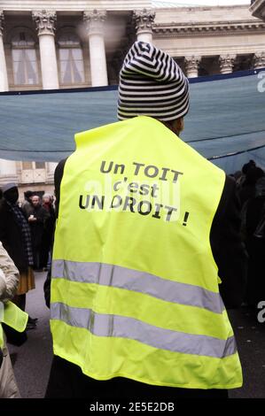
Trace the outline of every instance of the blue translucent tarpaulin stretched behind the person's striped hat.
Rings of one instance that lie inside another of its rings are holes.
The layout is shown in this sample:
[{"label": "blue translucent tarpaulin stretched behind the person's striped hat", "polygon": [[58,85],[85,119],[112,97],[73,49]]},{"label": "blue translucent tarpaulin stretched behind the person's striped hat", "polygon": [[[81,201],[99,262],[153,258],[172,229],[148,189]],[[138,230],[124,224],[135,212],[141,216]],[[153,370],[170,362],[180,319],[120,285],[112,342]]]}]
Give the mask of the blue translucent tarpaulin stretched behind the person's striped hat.
[{"label": "blue translucent tarpaulin stretched behind the person's striped hat", "polygon": [[[182,139],[227,173],[265,168],[265,69],[191,81]],[[116,121],[117,87],[0,94],[0,158],[53,161],[74,134]]]}]

